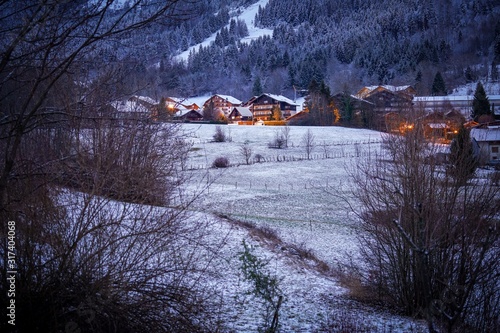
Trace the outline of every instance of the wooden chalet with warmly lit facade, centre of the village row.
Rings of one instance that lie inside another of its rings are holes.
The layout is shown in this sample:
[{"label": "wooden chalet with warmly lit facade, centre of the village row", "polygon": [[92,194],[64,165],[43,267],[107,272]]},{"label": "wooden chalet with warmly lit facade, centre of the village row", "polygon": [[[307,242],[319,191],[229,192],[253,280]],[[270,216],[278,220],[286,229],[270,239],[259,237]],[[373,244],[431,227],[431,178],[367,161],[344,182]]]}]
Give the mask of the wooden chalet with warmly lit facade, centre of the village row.
[{"label": "wooden chalet with warmly lit facade, centre of the village row", "polygon": [[273,112],[279,110],[281,118],[288,118],[297,111],[297,104],[292,100],[273,94],[262,94],[258,97],[252,98],[247,102],[254,119],[257,120],[281,120],[273,119]]}]

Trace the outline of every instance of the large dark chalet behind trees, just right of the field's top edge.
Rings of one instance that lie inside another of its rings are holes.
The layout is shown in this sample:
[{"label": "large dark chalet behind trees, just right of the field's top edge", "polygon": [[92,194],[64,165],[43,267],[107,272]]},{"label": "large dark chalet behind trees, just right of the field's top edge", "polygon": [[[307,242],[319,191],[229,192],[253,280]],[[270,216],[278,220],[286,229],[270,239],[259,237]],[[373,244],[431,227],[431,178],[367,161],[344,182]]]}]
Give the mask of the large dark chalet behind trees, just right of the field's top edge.
[{"label": "large dark chalet behind trees, just right of the field's top edge", "polygon": [[358,91],[355,97],[373,105],[375,128],[393,131],[393,126],[388,128],[385,123],[386,115],[411,110],[415,94],[416,90],[412,86],[384,85],[364,87]]}]

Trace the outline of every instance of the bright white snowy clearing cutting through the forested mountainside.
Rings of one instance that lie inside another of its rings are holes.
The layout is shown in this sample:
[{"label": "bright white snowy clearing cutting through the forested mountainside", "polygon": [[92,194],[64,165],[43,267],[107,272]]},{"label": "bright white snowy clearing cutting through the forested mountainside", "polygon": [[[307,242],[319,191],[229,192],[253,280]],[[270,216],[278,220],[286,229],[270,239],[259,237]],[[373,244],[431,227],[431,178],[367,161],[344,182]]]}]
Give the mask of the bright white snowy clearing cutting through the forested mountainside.
[{"label": "bright white snowy clearing cutting through the forested mountainside", "polygon": [[[250,41],[257,39],[261,36],[265,36],[265,35],[272,36],[273,30],[258,28],[255,26],[255,22],[254,22],[255,15],[257,14],[257,11],[259,10],[259,6],[264,7],[268,2],[269,2],[269,0],[260,0],[256,3],[254,3],[253,5],[248,6],[247,8],[238,8],[234,11],[234,13],[235,13],[234,18],[244,21],[248,27],[249,35],[247,37],[243,38],[241,40],[241,42],[249,43]],[[229,23],[226,27],[229,27]],[[198,50],[200,46],[203,46],[203,47],[209,46],[211,43],[213,43],[215,41],[216,36],[217,36],[217,32],[212,34],[210,37],[205,39],[203,42],[191,46],[186,51],[179,54],[176,57],[176,59],[187,61],[187,59],[189,57],[189,53],[191,51]]]}]

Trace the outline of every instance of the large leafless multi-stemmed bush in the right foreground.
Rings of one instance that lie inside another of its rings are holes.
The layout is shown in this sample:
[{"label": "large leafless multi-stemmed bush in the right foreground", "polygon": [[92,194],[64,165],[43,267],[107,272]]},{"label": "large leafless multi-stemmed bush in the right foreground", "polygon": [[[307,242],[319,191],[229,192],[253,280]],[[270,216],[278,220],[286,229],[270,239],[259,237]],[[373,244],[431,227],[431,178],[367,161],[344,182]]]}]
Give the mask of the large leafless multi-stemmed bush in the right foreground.
[{"label": "large leafless multi-stemmed bush in the right foreground", "polygon": [[384,146],[386,154],[352,172],[367,283],[406,314],[424,317],[432,332],[494,331],[499,188],[457,181],[462,177],[435,163],[439,147],[419,127],[386,136]]}]

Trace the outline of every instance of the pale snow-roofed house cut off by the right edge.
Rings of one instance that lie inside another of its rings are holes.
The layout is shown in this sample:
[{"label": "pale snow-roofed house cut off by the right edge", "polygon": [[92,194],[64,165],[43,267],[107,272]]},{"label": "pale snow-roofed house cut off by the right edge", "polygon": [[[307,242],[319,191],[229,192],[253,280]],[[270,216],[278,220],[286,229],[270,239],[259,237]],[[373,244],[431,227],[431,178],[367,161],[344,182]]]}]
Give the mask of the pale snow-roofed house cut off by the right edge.
[{"label": "pale snow-roofed house cut off by the right edge", "polygon": [[474,141],[483,164],[500,164],[500,121],[481,124],[471,129]]}]

